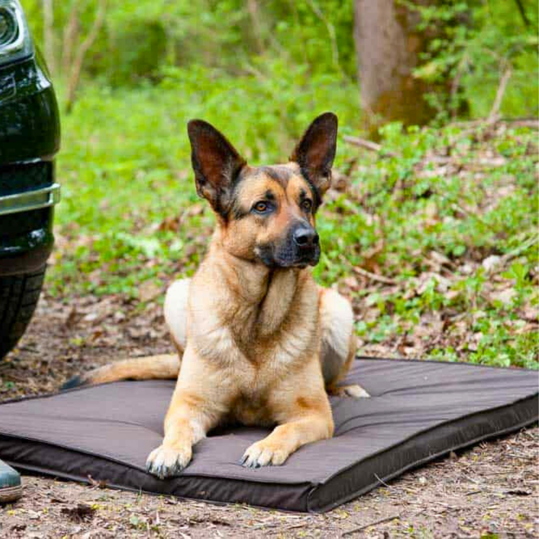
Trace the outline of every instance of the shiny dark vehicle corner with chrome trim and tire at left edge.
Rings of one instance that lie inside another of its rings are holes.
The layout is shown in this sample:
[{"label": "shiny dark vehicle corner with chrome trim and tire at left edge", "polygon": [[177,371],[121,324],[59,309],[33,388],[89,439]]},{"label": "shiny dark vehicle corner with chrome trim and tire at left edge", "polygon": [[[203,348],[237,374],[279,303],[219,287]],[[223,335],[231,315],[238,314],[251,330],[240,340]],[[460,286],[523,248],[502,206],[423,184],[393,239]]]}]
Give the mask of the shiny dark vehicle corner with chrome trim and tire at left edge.
[{"label": "shiny dark vehicle corner with chrome trim and tire at left edge", "polygon": [[58,105],[18,0],[0,0],[0,358],[23,335],[52,250]]}]

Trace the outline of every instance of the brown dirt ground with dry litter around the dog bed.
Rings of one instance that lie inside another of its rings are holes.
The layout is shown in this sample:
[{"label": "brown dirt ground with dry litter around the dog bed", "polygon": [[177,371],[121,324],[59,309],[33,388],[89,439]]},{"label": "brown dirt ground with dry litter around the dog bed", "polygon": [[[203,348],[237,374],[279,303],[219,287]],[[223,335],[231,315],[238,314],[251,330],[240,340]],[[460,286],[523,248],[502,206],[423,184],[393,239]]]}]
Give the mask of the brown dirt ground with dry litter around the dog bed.
[{"label": "brown dirt ground with dry litter around the dog bed", "polygon": [[[68,305],[45,297],[19,347],[0,364],[0,400],[57,390],[81,369],[111,360],[170,350],[156,303],[142,310],[114,296]],[[522,430],[407,473],[323,515],[26,475],[23,498],[0,507],[0,536],[539,537],[538,444],[536,426]]]}]

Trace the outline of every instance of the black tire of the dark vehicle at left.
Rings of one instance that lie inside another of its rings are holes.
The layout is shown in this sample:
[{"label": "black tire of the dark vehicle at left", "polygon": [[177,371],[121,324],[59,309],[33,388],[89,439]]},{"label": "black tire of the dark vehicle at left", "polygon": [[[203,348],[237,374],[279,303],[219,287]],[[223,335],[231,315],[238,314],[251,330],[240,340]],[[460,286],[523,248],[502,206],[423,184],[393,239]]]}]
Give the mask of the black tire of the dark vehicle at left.
[{"label": "black tire of the dark vehicle at left", "polygon": [[36,308],[45,266],[32,273],[0,276],[0,359],[23,336]]}]

